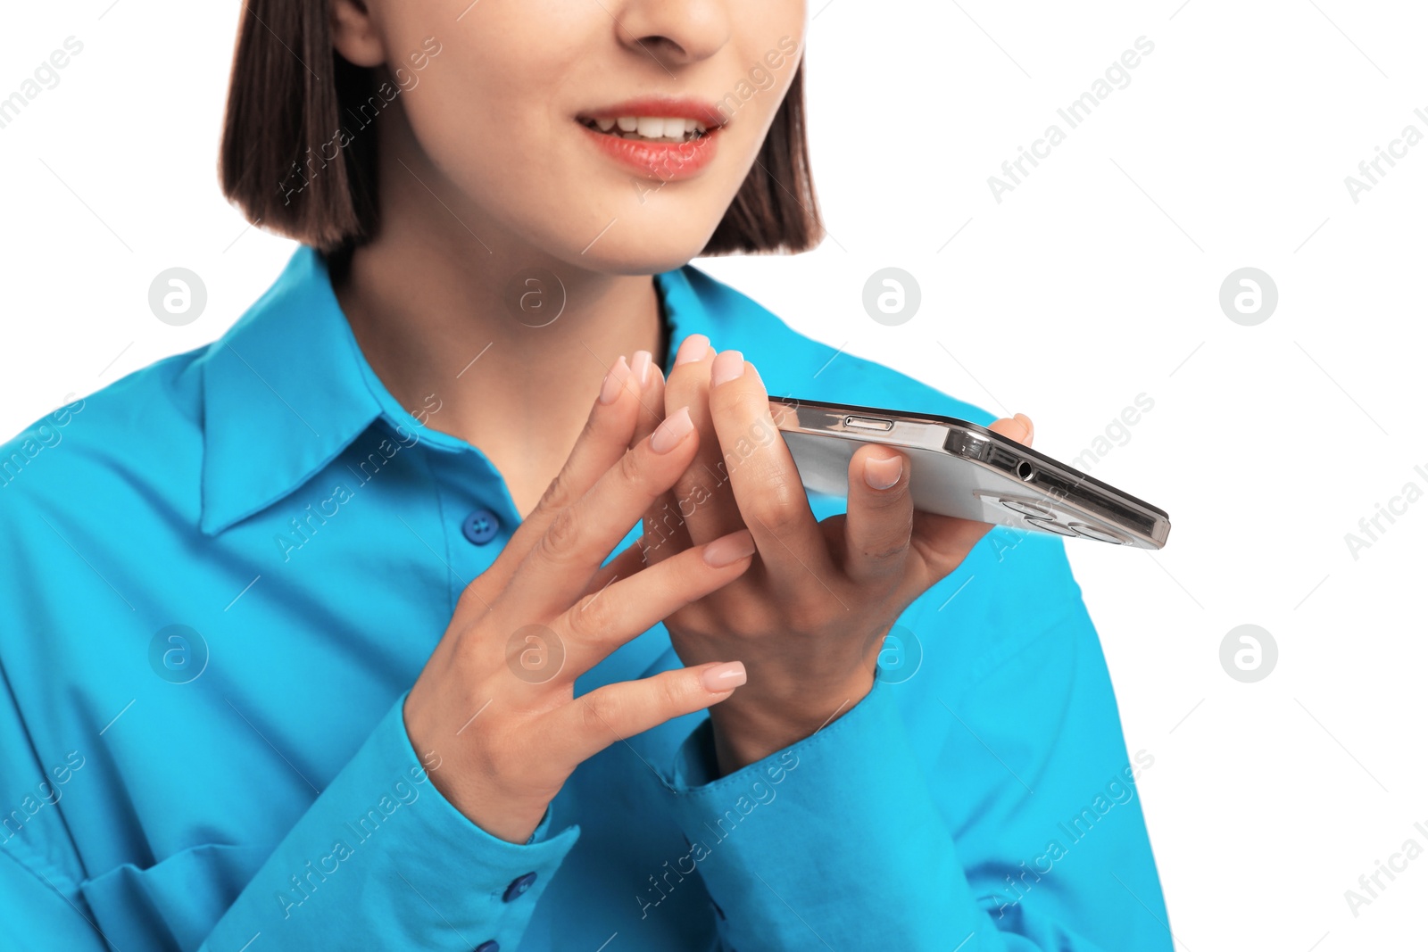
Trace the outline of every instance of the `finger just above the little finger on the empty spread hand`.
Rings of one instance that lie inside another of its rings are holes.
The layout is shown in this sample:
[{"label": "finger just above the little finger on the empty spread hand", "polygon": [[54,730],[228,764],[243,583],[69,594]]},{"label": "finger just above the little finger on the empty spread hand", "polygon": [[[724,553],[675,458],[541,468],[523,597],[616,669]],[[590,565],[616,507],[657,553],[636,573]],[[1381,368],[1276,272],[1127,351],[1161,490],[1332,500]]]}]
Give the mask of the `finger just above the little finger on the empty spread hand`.
[{"label": "finger just above the little finger on the empty spread hand", "polygon": [[574,679],[680,608],[743,575],[754,561],[748,530],[685,550],[581,598],[553,622]]}]

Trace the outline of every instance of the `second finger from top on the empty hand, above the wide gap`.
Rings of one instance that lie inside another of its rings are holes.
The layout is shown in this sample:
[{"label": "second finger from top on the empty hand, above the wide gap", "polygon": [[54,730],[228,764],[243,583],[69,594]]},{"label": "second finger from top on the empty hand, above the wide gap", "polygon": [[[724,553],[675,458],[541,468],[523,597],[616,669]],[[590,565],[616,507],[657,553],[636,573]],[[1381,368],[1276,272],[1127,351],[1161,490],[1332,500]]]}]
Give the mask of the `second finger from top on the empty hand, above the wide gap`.
[{"label": "second finger from top on the empty hand, above the wide gap", "polygon": [[674,485],[694,457],[697,440],[688,412],[680,410],[665,418],[578,501],[554,514],[503,597],[523,611],[570,607],[630,527]]}]

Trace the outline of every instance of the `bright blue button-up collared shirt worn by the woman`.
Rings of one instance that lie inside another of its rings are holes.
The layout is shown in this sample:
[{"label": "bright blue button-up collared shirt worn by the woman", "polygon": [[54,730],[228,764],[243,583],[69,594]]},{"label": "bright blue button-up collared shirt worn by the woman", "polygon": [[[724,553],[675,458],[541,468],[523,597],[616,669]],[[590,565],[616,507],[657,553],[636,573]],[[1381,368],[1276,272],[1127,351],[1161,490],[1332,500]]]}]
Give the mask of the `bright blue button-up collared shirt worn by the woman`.
[{"label": "bright blue button-up collared shirt worn by the woman", "polygon": [[[774,394],[992,418],[693,267],[655,281],[671,354],[703,333]],[[467,821],[401,702],[520,515],[423,425],[437,391],[398,405],[300,247],[221,340],[0,447],[0,946],[1171,948],[1154,756],[1050,535],[994,530],[867,698],[765,761],[715,779],[690,715],[581,765],[528,844]],[[577,691],[678,664],[657,625]]]}]

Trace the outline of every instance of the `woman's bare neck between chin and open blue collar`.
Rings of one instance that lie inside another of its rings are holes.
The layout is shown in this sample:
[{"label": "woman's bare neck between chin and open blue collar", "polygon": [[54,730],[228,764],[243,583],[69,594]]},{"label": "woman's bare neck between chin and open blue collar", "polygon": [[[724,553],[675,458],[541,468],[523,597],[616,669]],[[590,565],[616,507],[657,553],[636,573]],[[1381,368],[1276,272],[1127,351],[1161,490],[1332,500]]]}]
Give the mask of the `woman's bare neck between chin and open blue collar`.
[{"label": "woman's bare neck between chin and open blue collar", "polygon": [[338,303],[387,390],[491,458],[526,515],[605,370],[637,350],[663,361],[654,281],[578,271],[494,230],[483,243],[451,216],[406,220],[397,208],[414,204],[398,198],[384,196],[381,233],[334,278]]}]

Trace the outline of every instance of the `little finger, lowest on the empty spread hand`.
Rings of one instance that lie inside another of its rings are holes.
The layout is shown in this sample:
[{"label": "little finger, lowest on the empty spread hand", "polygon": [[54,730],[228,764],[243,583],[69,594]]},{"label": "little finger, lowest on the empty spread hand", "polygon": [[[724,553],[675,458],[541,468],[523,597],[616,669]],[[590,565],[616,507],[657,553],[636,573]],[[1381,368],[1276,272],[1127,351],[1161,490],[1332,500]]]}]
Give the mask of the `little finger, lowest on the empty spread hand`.
[{"label": "little finger, lowest on the empty spread hand", "polygon": [[574,769],[615,741],[718,704],[745,678],[744,665],[728,661],[595,688],[541,715],[534,749],[568,758]]}]

